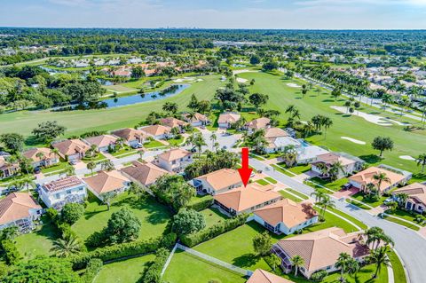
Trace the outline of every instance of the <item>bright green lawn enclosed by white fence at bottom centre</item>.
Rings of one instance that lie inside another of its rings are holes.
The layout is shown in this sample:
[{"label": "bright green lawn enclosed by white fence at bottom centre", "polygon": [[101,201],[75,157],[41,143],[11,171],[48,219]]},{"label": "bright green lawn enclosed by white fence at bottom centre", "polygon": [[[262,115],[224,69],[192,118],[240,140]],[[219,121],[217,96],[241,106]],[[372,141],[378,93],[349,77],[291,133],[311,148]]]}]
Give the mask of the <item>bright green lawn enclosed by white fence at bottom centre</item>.
[{"label": "bright green lawn enclosed by white fence at bottom centre", "polygon": [[180,250],[173,255],[163,279],[170,283],[207,283],[213,279],[220,283],[246,282],[240,273]]}]

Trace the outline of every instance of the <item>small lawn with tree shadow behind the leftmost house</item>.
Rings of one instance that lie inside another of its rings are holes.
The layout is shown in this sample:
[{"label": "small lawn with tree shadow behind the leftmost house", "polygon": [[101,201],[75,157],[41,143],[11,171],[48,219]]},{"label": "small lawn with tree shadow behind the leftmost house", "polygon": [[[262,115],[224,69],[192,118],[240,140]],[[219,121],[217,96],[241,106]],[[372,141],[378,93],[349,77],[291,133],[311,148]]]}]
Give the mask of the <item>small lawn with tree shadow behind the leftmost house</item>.
[{"label": "small lawn with tree shadow behind the leftmost house", "polygon": [[42,216],[43,226],[34,232],[22,234],[16,240],[16,247],[24,258],[36,255],[51,255],[53,240],[59,237],[58,231],[47,216]]}]

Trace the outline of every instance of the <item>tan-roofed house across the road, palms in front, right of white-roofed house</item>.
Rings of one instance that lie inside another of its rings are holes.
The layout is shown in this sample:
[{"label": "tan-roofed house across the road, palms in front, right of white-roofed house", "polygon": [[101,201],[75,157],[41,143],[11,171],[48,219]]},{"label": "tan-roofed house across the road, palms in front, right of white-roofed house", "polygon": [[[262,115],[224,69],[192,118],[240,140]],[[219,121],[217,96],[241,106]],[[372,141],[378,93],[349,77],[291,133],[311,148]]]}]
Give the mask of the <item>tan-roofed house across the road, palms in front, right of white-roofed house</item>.
[{"label": "tan-roofed house across the road, palms in front, right of white-roofed house", "polygon": [[324,153],[317,155],[315,161],[312,161],[312,171],[319,174],[319,177],[330,177],[330,174],[323,172],[321,167],[326,169],[333,167],[335,163],[340,162],[343,169],[337,173],[337,179],[346,177],[354,172],[362,169],[365,161],[360,160],[358,157],[350,156],[344,153]]}]

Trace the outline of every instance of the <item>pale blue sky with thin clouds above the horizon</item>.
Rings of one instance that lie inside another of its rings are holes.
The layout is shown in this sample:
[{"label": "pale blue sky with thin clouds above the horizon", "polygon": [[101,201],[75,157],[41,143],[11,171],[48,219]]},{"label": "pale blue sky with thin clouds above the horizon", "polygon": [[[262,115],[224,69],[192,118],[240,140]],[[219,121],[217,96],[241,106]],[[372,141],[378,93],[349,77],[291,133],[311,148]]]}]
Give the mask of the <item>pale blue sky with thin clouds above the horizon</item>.
[{"label": "pale blue sky with thin clouds above the horizon", "polygon": [[0,26],[423,29],[426,0],[0,0]]}]

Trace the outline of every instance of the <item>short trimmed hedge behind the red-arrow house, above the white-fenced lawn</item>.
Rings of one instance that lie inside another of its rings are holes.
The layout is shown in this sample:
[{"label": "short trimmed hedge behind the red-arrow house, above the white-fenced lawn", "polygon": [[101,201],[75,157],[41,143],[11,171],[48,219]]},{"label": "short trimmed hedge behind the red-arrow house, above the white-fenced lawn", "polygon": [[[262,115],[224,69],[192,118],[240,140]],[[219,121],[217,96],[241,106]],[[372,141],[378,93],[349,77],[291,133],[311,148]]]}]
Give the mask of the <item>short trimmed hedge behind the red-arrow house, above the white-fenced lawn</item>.
[{"label": "short trimmed hedge behind the red-arrow house, above the white-fenced lawn", "polygon": [[231,231],[242,224],[246,223],[248,215],[241,214],[231,219],[225,220],[223,223],[211,226],[208,229],[201,230],[192,234],[184,235],[181,237],[182,243],[188,247],[193,247],[203,241],[213,239],[224,232]]}]

